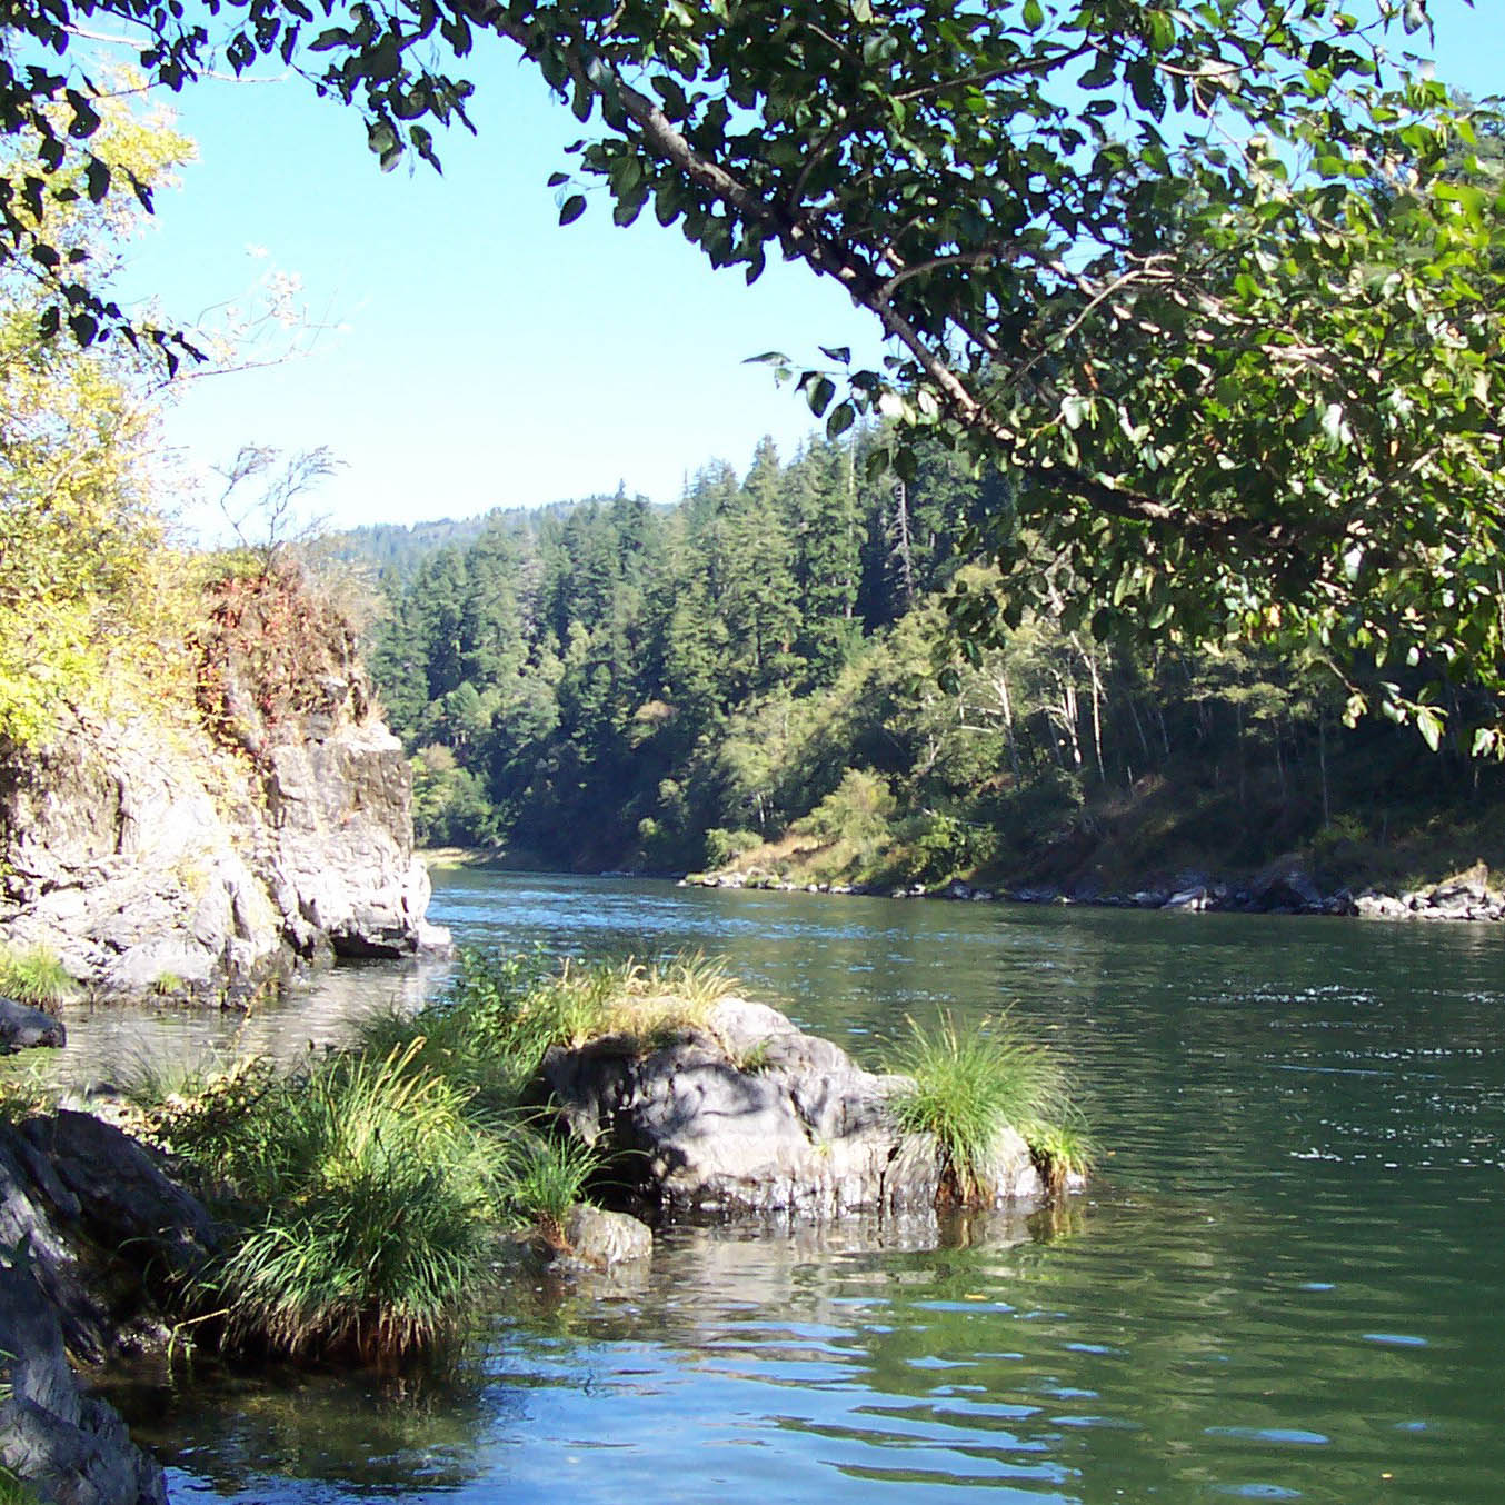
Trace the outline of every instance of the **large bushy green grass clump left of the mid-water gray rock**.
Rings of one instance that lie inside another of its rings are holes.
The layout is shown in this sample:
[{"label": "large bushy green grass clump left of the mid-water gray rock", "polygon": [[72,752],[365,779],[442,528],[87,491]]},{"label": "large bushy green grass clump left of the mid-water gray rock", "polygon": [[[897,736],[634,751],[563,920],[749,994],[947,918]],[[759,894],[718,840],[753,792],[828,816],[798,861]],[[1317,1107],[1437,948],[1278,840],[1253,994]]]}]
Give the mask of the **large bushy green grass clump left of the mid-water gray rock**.
[{"label": "large bushy green grass clump left of the mid-water gray rock", "polygon": [[390,1368],[462,1329],[489,1279],[503,1147],[415,1054],[230,1070],[164,1105],[161,1136],[239,1227],[200,1293],[232,1347]]}]

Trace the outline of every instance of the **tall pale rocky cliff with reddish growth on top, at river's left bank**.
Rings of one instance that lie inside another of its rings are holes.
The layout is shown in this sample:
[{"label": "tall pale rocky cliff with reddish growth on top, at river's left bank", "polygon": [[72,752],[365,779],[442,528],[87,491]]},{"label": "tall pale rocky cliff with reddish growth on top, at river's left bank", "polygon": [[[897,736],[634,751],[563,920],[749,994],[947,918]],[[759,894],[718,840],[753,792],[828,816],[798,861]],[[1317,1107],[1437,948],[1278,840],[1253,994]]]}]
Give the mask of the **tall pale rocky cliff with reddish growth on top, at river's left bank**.
[{"label": "tall pale rocky cliff with reddish growth on top, at river's left bank", "polygon": [[0,751],[0,939],[95,993],[218,1001],[445,939],[402,748],[349,631],[287,608],[299,588],[275,613],[265,585],[257,611],[244,588],[233,614],[220,600],[197,715],[75,712],[45,748]]}]

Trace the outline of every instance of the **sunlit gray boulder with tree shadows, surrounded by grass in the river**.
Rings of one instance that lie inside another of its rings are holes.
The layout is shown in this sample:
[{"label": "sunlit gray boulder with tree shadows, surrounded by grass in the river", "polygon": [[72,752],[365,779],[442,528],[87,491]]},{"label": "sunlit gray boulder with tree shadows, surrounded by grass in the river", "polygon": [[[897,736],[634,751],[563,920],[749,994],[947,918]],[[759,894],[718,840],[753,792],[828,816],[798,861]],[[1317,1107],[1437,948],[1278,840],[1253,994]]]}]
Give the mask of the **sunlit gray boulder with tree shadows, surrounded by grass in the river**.
[{"label": "sunlit gray boulder with tree shadows, surrounded by grass in the river", "polygon": [[[540,1085],[661,1213],[898,1213],[930,1209],[942,1192],[935,1139],[898,1127],[905,1079],[861,1070],[762,1004],[724,999],[707,1029],[646,1054],[622,1037],[555,1047]],[[1004,1136],[984,1183],[999,1206],[1040,1195],[1017,1133]]]}]

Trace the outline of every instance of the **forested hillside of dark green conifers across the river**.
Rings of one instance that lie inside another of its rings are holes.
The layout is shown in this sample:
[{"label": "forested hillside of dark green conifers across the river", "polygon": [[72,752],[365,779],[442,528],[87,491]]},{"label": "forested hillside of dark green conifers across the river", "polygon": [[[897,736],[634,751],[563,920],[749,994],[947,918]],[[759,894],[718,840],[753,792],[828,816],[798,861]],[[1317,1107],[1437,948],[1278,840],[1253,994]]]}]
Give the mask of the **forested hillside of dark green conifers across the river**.
[{"label": "forested hillside of dark green conifers across the river", "polygon": [[963,560],[1007,486],[939,448],[900,482],[873,445],[765,441],[673,510],[495,515],[390,575],[372,656],[420,838],[652,871],[771,840],[810,877],[1088,889],[1296,849],[1336,880],[1494,855],[1496,766],[1345,727],[1350,686],[1275,625],[1219,652],[1099,643],[1061,579],[963,653],[944,600],[1002,588]]}]

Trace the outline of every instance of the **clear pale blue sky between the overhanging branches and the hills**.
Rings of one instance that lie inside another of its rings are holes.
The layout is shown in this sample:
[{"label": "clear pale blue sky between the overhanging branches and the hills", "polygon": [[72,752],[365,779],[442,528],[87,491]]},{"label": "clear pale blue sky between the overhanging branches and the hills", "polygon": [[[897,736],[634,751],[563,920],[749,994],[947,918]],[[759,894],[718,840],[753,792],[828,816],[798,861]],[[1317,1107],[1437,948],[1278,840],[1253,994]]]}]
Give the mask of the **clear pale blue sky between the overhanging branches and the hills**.
[{"label": "clear pale blue sky between the overhanging branches and the hills", "polygon": [[[1433,14],[1440,77],[1505,90],[1505,0],[1433,0]],[[438,143],[442,178],[379,173],[358,116],[296,81],[181,96],[199,160],[158,197],[122,290],[155,289],[172,318],[193,321],[227,299],[248,306],[247,289],[278,269],[327,327],[296,358],[187,384],[167,417],[187,476],[242,444],[327,445],[342,470],[309,512],[334,527],[619,482],[671,501],[709,459],[740,470],[762,435],[787,455],[810,430],[802,399],[746,357],[819,360],[819,343],[877,361],[870,318],[804,268],[771,265],[748,287],[652,212],[617,229],[594,194],[561,229],[546,178],[567,166],[579,126],[500,54],[474,75],[480,134]],[[212,510],[185,516],[214,527]]]}]

